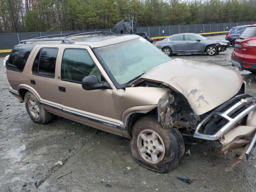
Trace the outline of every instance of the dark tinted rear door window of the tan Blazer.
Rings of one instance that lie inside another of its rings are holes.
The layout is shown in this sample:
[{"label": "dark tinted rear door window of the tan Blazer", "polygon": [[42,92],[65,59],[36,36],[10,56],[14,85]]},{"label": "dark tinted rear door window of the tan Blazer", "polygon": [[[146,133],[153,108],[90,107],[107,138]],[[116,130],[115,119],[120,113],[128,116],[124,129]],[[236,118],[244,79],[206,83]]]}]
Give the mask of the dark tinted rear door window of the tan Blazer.
[{"label": "dark tinted rear door window of the tan Blazer", "polygon": [[32,66],[32,74],[54,78],[57,54],[58,48],[40,49]]}]

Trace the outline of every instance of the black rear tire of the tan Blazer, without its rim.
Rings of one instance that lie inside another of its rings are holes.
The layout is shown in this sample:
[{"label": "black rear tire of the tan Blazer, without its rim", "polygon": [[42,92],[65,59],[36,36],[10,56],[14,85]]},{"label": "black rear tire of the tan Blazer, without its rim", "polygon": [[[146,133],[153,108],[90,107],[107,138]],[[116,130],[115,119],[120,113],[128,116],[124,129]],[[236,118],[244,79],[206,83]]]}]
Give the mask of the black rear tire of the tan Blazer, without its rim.
[{"label": "black rear tire of the tan Blazer, without its rim", "polygon": [[[25,106],[26,106],[26,110],[28,112],[28,115],[30,116],[30,118],[35,123],[44,124],[44,123],[47,123],[50,120],[52,120],[52,114],[44,109],[44,106],[42,106],[40,104],[39,100],[36,98],[36,96],[34,94],[32,94],[32,92],[30,92],[30,91],[26,92],[24,100],[25,100]],[[30,109],[29,109],[29,102],[30,102],[30,100],[32,102],[34,102],[34,105],[36,105],[38,107],[38,109],[39,109],[39,112],[37,114],[38,117],[35,117],[32,114],[32,112],[30,112]]]}]

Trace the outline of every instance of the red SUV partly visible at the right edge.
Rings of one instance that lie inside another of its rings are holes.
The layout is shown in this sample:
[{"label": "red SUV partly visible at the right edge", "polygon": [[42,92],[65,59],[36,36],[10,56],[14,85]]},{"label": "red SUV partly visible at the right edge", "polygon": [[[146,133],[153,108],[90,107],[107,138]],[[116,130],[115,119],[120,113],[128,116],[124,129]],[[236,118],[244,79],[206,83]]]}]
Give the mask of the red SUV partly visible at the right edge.
[{"label": "red SUV partly visible at the right edge", "polygon": [[239,70],[256,73],[256,24],[248,26],[236,39],[231,62]]}]

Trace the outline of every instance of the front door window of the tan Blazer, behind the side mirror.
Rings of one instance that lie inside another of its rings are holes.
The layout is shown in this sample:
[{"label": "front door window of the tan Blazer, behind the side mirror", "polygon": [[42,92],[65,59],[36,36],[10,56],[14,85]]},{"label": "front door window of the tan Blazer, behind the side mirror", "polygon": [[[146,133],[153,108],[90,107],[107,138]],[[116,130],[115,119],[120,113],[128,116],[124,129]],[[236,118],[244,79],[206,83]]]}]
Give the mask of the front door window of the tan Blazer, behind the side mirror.
[{"label": "front door window of the tan Blazer, behind the side mirror", "polygon": [[62,57],[61,79],[82,82],[88,75],[95,75],[101,80],[101,73],[87,50],[66,49]]}]

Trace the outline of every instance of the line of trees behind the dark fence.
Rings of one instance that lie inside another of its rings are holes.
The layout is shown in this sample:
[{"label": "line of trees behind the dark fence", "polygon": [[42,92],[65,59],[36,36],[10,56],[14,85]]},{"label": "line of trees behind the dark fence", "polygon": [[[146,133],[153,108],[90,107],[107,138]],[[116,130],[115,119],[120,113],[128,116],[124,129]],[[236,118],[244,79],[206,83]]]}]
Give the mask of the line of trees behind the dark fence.
[{"label": "line of trees behind the dark fence", "polygon": [[256,0],[0,0],[0,33],[256,21]]}]

